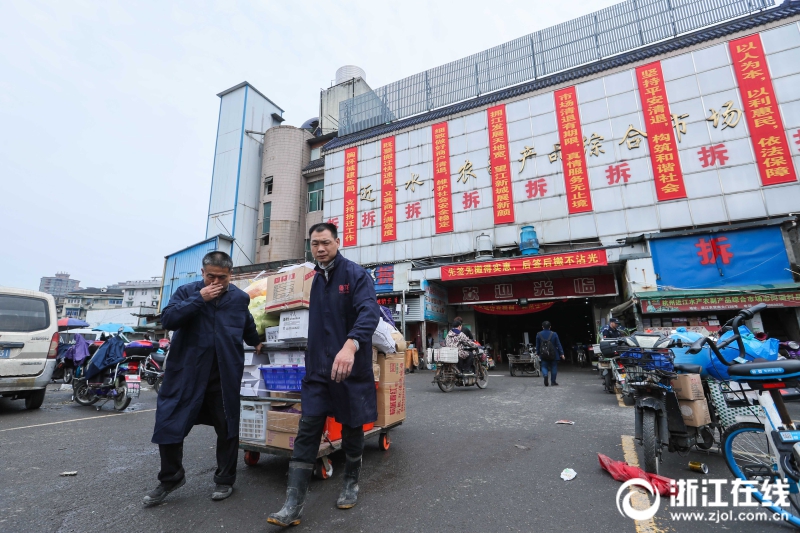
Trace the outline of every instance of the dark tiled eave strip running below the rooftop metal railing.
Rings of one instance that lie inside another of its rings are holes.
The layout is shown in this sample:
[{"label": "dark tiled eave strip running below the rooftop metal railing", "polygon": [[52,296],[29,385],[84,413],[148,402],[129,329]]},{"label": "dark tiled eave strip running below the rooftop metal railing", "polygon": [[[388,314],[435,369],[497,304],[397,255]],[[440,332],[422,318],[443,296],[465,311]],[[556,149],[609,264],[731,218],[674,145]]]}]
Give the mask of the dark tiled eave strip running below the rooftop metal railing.
[{"label": "dark tiled eave strip running below the rooftop metal railing", "polygon": [[323,147],[323,151],[327,153],[331,150],[359,143],[373,137],[386,136],[392,132],[415,126],[417,124],[424,124],[426,122],[446,119],[451,115],[462,113],[470,109],[484,107],[501,100],[507,100],[516,96],[540,91],[548,87],[554,87],[563,83],[577,81],[607,70],[637,63],[653,57],[658,57],[670,52],[688,48],[690,46],[695,46],[707,41],[726,37],[734,33],[747,31],[795,15],[800,15],[800,0],[785,0],[782,5],[766,11],[722,22],[711,27],[703,28],[685,35],[680,35],[672,39],[632,50],[630,52],[625,52],[614,57],[600,59],[580,67],[542,77],[521,85],[516,85],[489,94],[484,94],[477,98],[472,98],[470,100],[409,117],[407,119],[398,120],[389,124],[382,124],[380,126],[375,126],[370,129],[351,133],[349,135],[340,135],[336,139],[333,139],[327,143]]}]

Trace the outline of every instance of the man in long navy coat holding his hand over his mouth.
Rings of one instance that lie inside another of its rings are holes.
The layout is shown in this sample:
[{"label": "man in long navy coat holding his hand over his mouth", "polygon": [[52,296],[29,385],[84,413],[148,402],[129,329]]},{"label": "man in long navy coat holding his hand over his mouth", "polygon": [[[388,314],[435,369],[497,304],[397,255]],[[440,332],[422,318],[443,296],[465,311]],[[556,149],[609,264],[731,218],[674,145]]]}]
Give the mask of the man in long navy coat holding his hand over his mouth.
[{"label": "man in long navy coat holding his hand over his mouth", "polygon": [[145,504],[164,501],[186,483],[183,440],[195,424],[217,433],[216,487],[212,500],[233,492],[239,457],[239,388],[244,371],[243,342],[261,347],[247,306],[250,297],[230,284],[233,261],[224,252],[203,258],[203,280],[182,285],[161,314],[175,332],[164,383],[158,394],[154,444],[161,454],[158,487]]}]

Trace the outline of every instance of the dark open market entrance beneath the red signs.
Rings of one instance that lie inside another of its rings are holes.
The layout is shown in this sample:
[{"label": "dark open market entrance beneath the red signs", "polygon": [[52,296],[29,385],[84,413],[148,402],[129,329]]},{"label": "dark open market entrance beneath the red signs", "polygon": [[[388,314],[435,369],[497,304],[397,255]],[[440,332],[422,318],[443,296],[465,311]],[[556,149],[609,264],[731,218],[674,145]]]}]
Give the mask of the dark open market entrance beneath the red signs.
[{"label": "dark open market entrance beneath the red signs", "polygon": [[[543,303],[543,302],[541,302]],[[548,302],[549,303],[549,302]],[[475,322],[479,340],[492,347],[492,353],[519,353],[528,333],[530,342],[535,343],[536,334],[542,329],[545,320],[552,324],[558,333],[567,360],[574,355],[574,346],[593,344],[596,332],[593,325],[592,303],[589,299],[576,298],[553,302],[545,310],[526,314],[499,314],[481,312],[486,306],[475,306]]]}]

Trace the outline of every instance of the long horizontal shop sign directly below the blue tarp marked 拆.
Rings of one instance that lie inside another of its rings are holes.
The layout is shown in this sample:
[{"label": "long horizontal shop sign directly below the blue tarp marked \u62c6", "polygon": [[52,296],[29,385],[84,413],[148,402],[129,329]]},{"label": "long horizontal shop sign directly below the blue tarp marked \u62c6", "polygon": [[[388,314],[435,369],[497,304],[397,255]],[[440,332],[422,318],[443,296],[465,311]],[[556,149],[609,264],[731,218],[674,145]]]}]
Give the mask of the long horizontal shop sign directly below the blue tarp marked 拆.
[{"label": "long horizontal shop sign directly below the blue tarp marked \u62c6", "polygon": [[800,284],[747,285],[731,289],[648,291],[636,294],[642,313],[725,311],[765,303],[767,307],[800,307]]}]

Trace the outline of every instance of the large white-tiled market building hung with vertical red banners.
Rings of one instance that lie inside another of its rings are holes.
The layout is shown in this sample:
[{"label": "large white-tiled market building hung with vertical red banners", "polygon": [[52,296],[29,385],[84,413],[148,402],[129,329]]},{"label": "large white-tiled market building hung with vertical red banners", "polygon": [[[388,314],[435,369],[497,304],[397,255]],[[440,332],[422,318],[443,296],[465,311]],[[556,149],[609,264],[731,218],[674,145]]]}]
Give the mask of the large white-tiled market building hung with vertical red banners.
[{"label": "large white-tiled market building hung with vertical red banners", "polygon": [[543,320],[590,344],[612,314],[713,331],[762,301],[754,330],[800,338],[798,20],[631,0],[356,95],[323,218],[389,304],[433,287],[500,353]]}]

